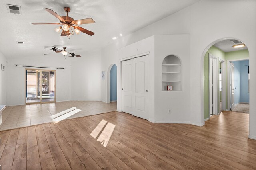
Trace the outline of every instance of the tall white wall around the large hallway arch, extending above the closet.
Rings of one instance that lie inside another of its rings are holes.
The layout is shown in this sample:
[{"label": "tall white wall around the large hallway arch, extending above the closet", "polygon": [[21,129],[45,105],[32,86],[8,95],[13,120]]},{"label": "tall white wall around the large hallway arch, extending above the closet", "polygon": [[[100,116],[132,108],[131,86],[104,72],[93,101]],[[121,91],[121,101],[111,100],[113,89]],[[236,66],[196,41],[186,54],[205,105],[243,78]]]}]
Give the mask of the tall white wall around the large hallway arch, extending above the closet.
[{"label": "tall white wall around the large hallway arch, extending above the closet", "polygon": [[[117,49],[152,35],[190,34],[190,122],[204,125],[204,53],[222,38],[243,41],[250,53],[250,86],[256,85],[256,1],[202,0],[163,20],[126,37],[116,39],[102,49],[102,70],[117,62]],[[118,65],[117,65],[118,66]],[[120,81],[119,81],[120,82]],[[104,100],[106,86],[102,86]],[[250,91],[250,102],[256,102],[256,89]],[[159,101],[160,102],[160,101]],[[163,114],[163,113],[158,113]],[[256,106],[250,105],[250,137],[256,139]]]}]

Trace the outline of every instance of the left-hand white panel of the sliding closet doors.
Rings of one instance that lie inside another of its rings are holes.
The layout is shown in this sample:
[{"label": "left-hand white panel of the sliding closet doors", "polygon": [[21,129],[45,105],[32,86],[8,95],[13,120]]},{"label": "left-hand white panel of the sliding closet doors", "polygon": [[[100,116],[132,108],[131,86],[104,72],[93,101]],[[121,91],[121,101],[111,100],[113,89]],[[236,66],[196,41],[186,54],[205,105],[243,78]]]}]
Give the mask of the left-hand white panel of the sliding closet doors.
[{"label": "left-hand white panel of the sliding closet doors", "polygon": [[133,114],[132,79],[132,59],[122,61],[122,111],[130,114]]}]

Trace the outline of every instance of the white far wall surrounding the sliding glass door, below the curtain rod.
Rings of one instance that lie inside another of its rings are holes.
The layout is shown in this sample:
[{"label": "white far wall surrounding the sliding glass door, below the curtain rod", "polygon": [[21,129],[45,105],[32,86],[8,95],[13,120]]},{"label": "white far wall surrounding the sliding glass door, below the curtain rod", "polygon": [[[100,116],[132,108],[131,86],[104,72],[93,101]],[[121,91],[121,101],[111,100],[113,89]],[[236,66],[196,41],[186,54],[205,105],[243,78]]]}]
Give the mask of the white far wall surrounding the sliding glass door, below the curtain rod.
[{"label": "white far wall surrounding the sliding glass door, below the curtain rod", "polygon": [[[44,57],[8,58],[7,104],[25,104],[25,68],[18,65],[64,67],[56,70],[56,101],[100,100],[100,51],[66,57],[61,54]],[[43,68],[47,69],[47,68]],[[97,79],[98,77],[98,79]]]}]

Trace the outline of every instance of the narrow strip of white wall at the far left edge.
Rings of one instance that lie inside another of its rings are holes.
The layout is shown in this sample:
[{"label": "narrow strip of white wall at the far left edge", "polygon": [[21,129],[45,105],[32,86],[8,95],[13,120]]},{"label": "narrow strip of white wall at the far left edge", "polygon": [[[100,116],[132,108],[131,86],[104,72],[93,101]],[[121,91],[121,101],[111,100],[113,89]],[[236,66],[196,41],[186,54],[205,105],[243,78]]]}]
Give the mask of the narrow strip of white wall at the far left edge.
[{"label": "narrow strip of white wall at the far left edge", "polygon": [[[0,52],[0,64],[6,65],[6,58]],[[6,104],[6,70],[0,69],[0,105]]]}]

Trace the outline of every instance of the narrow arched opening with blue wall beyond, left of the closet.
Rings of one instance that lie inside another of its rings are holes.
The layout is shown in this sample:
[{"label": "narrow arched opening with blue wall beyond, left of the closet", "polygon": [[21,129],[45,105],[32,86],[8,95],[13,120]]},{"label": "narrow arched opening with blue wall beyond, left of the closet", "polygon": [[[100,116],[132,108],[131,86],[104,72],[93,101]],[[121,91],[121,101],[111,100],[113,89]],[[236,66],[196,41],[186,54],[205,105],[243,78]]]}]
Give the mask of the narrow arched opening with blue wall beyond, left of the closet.
[{"label": "narrow arched opening with blue wall beyond, left of the closet", "polygon": [[117,66],[111,64],[107,72],[107,103],[117,101]]}]

